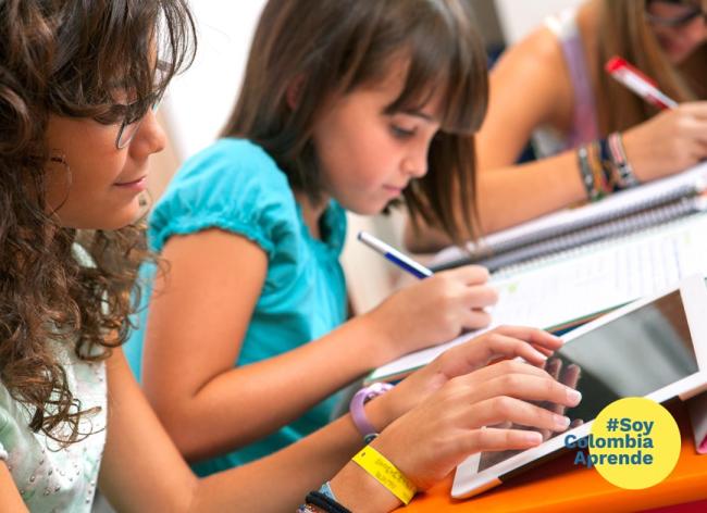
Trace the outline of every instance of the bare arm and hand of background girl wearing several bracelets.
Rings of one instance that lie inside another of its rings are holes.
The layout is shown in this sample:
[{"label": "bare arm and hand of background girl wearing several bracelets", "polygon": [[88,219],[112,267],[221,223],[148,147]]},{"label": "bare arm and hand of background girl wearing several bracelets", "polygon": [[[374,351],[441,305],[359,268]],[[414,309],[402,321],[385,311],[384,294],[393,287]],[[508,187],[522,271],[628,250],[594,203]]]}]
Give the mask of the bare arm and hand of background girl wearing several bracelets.
[{"label": "bare arm and hand of background girl wearing several bracelets", "polygon": [[[476,136],[476,208],[484,234],[586,199],[574,149],[514,164],[537,127],[570,129],[573,96],[560,45],[547,28],[510,48],[494,67],[488,113]],[[707,102],[683,103],[622,133],[638,180],[678,173],[707,158],[706,120]],[[449,243],[437,228],[423,226],[414,234],[407,227],[406,245],[412,251],[434,251]]]}]

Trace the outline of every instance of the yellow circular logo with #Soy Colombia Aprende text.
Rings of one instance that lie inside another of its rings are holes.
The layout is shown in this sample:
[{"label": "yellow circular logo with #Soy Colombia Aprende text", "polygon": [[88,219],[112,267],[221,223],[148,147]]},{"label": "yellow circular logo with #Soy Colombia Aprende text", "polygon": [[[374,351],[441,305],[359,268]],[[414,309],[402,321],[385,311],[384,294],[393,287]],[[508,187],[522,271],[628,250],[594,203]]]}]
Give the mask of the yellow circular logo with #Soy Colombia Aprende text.
[{"label": "yellow circular logo with #Soy Colombia Aprende text", "polygon": [[650,399],[619,399],[594,421],[590,458],[609,483],[630,490],[657,485],[680,458],[680,429],[668,410]]}]

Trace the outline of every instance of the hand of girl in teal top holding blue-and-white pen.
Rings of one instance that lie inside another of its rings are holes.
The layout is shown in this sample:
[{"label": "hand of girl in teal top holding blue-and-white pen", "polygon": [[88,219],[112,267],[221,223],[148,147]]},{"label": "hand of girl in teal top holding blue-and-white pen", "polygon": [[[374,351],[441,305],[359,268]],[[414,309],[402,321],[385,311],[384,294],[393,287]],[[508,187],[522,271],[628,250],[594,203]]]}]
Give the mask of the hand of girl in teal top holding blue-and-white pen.
[{"label": "hand of girl in teal top holding blue-and-white pen", "polygon": [[379,348],[380,352],[388,351],[382,354],[382,361],[445,342],[463,330],[491,323],[485,309],[496,303],[498,295],[488,285],[484,267],[467,265],[433,274],[370,234],[359,234],[359,240],[421,278],[364,314],[364,322],[373,323],[374,330],[386,340],[385,347]]}]

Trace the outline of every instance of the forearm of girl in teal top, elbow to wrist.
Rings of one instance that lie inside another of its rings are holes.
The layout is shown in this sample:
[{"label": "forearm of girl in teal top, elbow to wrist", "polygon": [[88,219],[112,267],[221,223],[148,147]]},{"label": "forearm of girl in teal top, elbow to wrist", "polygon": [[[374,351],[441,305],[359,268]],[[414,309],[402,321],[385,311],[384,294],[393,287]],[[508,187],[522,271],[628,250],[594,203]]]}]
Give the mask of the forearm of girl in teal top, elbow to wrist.
[{"label": "forearm of girl in teal top, elbow to wrist", "polygon": [[179,450],[197,460],[246,446],[297,420],[374,366],[375,343],[367,318],[358,317],[294,351],[230,370],[188,399],[174,391],[160,395],[149,383],[146,388]]}]

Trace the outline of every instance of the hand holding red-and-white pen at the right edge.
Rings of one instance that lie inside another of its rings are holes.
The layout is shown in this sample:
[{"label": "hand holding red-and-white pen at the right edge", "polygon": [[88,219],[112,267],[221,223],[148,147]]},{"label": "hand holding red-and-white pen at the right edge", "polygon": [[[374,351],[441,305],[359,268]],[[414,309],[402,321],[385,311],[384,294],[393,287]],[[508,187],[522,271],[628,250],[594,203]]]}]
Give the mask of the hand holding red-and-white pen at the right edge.
[{"label": "hand holding red-and-white pen at the right edge", "polygon": [[[662,112],[623,133],[629,162],[640,182],[684,171],[707,159],[707,102],[678,103],[650,78],[620,58],[606,71]],[[627,112],[616,115],[627,116]]]}]

